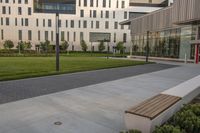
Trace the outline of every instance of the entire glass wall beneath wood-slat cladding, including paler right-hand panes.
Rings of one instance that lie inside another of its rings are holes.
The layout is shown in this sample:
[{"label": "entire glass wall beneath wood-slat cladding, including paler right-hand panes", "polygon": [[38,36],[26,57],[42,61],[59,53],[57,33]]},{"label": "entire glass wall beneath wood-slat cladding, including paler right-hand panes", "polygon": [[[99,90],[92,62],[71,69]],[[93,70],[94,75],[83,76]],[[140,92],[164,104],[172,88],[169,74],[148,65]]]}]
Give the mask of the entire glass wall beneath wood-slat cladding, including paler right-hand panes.
[{"label": "entire glass wall beneath wood-slat cladding, including paler right-hand panes", "polygon": [[[149,54],[153,57],[194,59],[195,43],[200,40],[200,26],[190,25],[149,34]],[[145,56],[147,53],[147,34],[133,37],[133,54]]]}]

